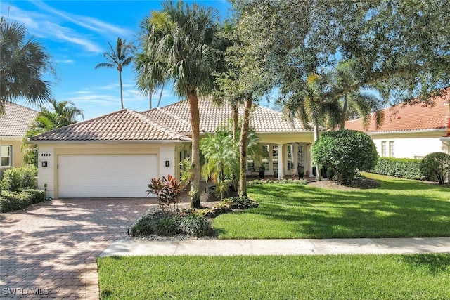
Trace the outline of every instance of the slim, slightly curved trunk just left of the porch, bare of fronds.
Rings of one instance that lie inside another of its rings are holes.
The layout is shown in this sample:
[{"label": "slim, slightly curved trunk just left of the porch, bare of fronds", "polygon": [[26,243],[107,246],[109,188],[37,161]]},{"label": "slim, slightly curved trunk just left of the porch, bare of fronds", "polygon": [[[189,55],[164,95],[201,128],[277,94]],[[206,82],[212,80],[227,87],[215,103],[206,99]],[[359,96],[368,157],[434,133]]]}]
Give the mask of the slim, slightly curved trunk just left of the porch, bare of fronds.
[{"label": "slim, slightly curved trunk just left of the porch, bare of fronds", "polygon": [[253,100],[249,97],[245,100],[244,119],[242,128],[240,129],[239,141],[239,196],[247,196],[247,144],[248,132],[250,129],[250,109],[252,108]]}]

